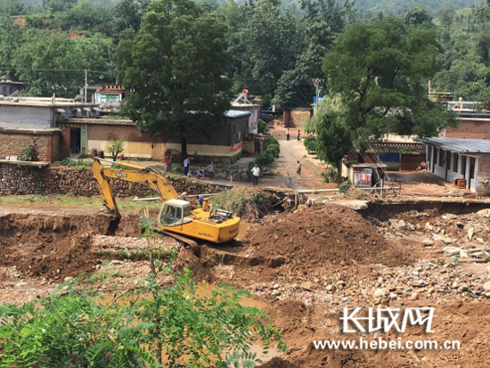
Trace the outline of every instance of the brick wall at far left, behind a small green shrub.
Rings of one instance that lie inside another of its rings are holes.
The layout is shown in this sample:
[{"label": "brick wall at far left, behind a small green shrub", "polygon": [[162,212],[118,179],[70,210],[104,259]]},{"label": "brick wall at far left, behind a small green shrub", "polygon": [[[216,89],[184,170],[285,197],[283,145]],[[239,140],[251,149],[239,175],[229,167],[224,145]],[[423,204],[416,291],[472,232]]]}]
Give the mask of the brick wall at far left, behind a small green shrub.
[{"label": "brick wall at far left, behind a small green shrub", "polygon": [[37,158],[53,162],[60,159],[59,129],[6,129],[0,128],[0,159],[22,155],[22,148],[36,142]]}]

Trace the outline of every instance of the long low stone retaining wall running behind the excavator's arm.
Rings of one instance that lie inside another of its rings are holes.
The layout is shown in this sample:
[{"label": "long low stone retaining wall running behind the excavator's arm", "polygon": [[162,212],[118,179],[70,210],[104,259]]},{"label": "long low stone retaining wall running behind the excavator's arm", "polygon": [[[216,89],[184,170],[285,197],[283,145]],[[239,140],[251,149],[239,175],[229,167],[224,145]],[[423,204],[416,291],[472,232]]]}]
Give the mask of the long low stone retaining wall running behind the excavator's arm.
[{"label": "long low stone retaining wall running behind the excavator's arm", "polygon": [[[84,197],[100,195],[92,170],[77,170],[62,165],[24,167],[11,162],[0,162],[0,195],[15,194],[74,194]],[[114,194],[119,198],[155,195],[143,184],[110,179]],[[225,185],[207,184],[183,176],[171,176],[170,182],[178,193],[222,192]]]}]

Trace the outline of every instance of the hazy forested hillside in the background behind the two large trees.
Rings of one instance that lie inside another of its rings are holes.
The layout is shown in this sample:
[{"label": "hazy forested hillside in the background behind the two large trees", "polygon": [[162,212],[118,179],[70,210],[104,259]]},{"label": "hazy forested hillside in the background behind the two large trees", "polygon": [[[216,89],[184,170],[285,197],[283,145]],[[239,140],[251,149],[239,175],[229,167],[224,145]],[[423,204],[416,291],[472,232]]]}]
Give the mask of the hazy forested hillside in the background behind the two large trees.
[{"label": "hazy forested hillside in the background behind the two large trees", "polygon": [[[204,0],[206,12],[225,21],[233,93],[248,88],[263,97],[265,107],[307,106],[318,91],[328,92],[323,57],[337,37],[355,22],[369,21],[358,7],[387,3],[358,0],[296,0],[302,15],[284,11],[293,2]],[[405,2],[429,3],[425,0]],[[465,4],[475,4],[476,0]],[[0,0],[0,68],[9,78],[29,85],[28,94],[73,95],[83,84],[117,78],[116,51],[120,32],[138,31],[151,0]],[[455,11],[460,0],[433,1],[429,8],[405,10],[398,19],[411,29],[433,29],[437,34],[441,68],[431,76],[432,86],[453,91],[456,97],[490,100],[490,11],[486,4]],[[397,9],[397,10],[395,10]],[[385,12],[386,11],[386,12]],[[430,12],[435,12],[431,14]],[[316,81],[315,81],[316,79]],[[489,97],[486,98],[486,95]]]}]

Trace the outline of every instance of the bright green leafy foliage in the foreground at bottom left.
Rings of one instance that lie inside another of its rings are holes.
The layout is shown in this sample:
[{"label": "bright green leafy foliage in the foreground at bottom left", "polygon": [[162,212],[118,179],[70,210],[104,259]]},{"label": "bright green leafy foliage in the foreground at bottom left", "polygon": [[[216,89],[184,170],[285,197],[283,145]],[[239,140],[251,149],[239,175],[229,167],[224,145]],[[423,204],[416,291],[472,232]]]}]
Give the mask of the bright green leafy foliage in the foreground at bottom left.
[{"label": "bright green leafy foliage in the foreground at bottom left", "polygon": [[[98,290],[115,274],[104,268],[21,307],[0,306],[0,367],[157,368],[164,356],[169,368],[253,367],[260,363],[253,344],[266,350],[276,341],[285,350],[265,313],[241,305],[246,291],[219,285],[203,294],[190,270],[153,258],[157,235],[148,217],[141,225],[152,269],[132,289],[104,300]],[[173,286],[159,284],[160,272]]]}]

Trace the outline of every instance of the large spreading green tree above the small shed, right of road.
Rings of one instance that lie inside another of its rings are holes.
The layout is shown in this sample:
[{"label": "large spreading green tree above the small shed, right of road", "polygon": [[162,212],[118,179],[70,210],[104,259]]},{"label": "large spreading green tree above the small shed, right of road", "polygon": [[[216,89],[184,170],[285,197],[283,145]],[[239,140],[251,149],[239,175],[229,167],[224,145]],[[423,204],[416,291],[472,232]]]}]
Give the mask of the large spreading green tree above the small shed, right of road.
[{"label": "large spreading green tree above the small shed, right of road", "polygon": [[408,31],[395,18],[349,26],[323,59],[323,70],[346,107],[352,134],[433,136],[453,124],[451,114],[427,98],[437,56],[434,29]]}]

